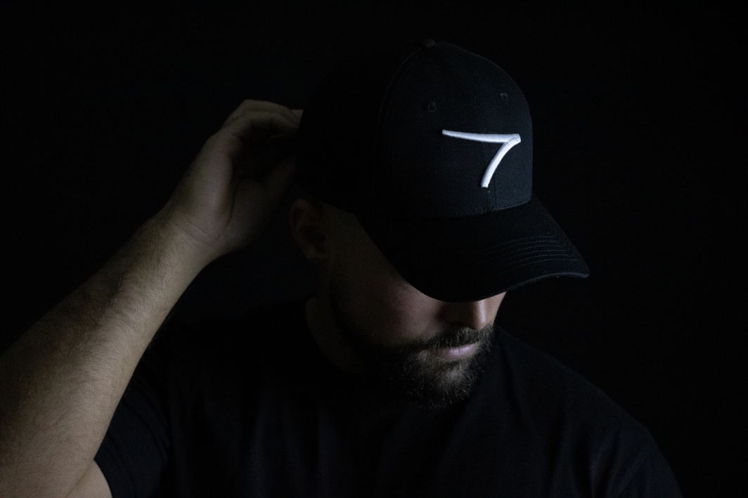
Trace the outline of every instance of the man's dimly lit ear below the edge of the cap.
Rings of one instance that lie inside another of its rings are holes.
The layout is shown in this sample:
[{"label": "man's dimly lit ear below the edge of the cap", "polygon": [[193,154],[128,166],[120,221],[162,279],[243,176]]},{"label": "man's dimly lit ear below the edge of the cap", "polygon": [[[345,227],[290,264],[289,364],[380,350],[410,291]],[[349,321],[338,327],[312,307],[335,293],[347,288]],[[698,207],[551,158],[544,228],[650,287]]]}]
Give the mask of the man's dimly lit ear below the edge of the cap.
[{"label": "man's dimly lit ear below the edge of the cap", "polygon": [[326,265],[330,259],[326,239],[330,234],[327,233],[322,203],[310,197],[296,199],[289,212],[289,221],[293,238],[304,256],[318,266]]}]

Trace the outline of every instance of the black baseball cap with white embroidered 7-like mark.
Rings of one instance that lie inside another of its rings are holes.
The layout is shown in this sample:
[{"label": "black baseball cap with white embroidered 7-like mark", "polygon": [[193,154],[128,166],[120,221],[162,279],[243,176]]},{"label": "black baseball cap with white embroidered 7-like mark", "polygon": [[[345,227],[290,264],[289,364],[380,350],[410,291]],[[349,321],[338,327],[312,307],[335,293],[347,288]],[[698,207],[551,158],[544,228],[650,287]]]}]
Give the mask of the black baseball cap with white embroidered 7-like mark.
[{"label": "black baseball cap with white embroidered 7-like mark", "polygon": [[589,275],[533,194],[524,95],[480,55],[431,39],[357,52],[308,99],[297,146],[301,188],[355,215],[432,298]]}]

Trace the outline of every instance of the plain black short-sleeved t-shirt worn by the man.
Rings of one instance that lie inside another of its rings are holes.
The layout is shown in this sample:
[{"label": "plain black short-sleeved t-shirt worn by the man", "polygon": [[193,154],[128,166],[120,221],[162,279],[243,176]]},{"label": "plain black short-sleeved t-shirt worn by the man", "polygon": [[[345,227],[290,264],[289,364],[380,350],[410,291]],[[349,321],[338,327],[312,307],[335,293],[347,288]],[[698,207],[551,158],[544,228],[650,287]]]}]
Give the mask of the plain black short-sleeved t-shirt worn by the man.
[{"label": "plain black short-sleeved t-shirt worn by the man", "polygon": [[163,328],[96,463],[114,498],[681,496],[642,425],[500,328],[470,398],[422,408],[331,363],[304,301]]}]

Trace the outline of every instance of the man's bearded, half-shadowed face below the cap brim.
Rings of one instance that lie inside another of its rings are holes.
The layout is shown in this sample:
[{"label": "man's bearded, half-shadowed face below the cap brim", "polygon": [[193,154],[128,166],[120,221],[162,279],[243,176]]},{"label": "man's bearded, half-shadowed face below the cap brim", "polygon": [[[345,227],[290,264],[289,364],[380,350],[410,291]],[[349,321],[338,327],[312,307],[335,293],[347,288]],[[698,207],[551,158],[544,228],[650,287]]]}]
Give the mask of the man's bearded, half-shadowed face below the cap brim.
[{"label": "man's bearded, half-shadowed face below the cap brim", "polygon": [[400,276],[355,218],[341,213],[343,230],[323,276],[340,335],[367,375],[397,393],[430,406],[465,399],[505,293],[470,303],[430,298]]}]

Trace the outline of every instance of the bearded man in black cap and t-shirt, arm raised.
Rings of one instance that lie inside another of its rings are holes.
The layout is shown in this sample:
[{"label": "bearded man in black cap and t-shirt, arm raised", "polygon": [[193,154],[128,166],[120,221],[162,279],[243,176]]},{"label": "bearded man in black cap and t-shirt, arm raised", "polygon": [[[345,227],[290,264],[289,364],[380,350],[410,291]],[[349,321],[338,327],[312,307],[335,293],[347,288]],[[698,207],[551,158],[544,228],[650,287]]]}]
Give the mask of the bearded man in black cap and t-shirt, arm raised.
[{"label": "bearded man in black cap and t-shirt, arm raised", "polygon": [[[4,354],[0,496],[679,496],[646,429],[494,327],[508,290],[588,273],[532,193],[509,76],[404,43],[338,64],[301,114],[243,102]],[[156,334],[295,176],[319,292]]]}]

